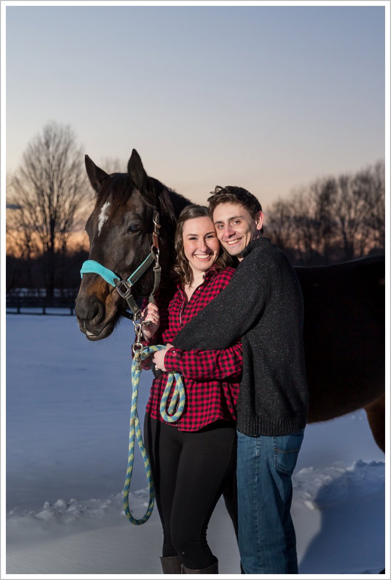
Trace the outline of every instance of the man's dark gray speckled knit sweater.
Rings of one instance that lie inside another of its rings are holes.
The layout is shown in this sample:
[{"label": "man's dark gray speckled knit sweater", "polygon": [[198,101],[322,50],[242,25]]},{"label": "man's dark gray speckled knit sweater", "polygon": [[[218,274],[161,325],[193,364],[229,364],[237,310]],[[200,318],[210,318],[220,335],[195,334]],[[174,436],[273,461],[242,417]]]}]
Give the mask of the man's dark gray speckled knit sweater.
[{"label": "man's dark gray speckled knit sweater", "polygon": [[178,333],[184,350],[224,349],[242,337],[238,430],[248,436],[303,429],[308,391],[303,349],[303,297],[285,253],[268,238],[243,251],[234,277]]}]

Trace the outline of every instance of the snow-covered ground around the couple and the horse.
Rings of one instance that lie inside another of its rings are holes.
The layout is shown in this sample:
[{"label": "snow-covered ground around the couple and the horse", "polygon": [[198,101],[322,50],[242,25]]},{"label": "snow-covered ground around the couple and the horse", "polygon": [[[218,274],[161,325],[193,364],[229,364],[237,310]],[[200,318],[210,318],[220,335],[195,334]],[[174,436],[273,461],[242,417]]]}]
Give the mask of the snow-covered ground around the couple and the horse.
[{"label": "snow-covered ground around the couple and the horse", "polygon": [[[6,316],[6,574],[161,574],[157,509],[141,526],[122,511],[132,338],[128,321],[91,343],[74,317]],[[141,420],[151,381],[143,372]],[[293,483],[299,574],[378,574],[385,463],[365,413],[307,426]],[[148,502],[139,454],[131,491],[139,517]],[[222,501],[208,539],[220,573],[239,578]]]}]

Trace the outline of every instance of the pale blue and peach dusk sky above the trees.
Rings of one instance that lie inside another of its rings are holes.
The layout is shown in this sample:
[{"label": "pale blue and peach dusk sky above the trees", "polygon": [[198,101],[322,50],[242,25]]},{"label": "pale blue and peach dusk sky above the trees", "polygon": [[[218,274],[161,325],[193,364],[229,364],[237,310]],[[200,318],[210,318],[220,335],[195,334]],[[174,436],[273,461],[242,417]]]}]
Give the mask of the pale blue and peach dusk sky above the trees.
[{"label": "pale blue and peach dusk sky above the trees", "polygon": [[387,3],[2,4],[7,172],[51,121],[198,203],[238,185],[267,206],[385,158]]}]

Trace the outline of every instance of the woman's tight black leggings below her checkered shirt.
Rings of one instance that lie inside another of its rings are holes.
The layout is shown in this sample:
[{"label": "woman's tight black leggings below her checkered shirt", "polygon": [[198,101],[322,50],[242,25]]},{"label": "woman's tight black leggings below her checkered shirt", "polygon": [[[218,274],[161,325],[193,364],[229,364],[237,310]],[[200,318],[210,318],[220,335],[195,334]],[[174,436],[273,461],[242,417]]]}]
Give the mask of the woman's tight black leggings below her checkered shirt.
[{"label": "woman's tight black leggings below her checkered shirt", "polygon": [[144,439],[163,525],[163,556],[187,568],[216,562],[206,541],[214,507],[236,468],[236,428],[219,420],[196,432],[145,415]]}]

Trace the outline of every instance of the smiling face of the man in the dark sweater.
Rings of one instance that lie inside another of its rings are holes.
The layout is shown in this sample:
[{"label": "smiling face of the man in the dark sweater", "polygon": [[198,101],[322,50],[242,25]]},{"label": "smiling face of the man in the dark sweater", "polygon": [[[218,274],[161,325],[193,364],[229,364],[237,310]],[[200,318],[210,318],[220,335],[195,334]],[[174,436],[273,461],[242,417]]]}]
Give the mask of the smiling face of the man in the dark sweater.
[{"label": "smiling face of the man in the dark sweater", "polygon": [[231,256],[242,260],[242,252],[250,241],[259,238],[263,213],[253,218],[241,204],[220,204],[213,211],[217,237]]}]

